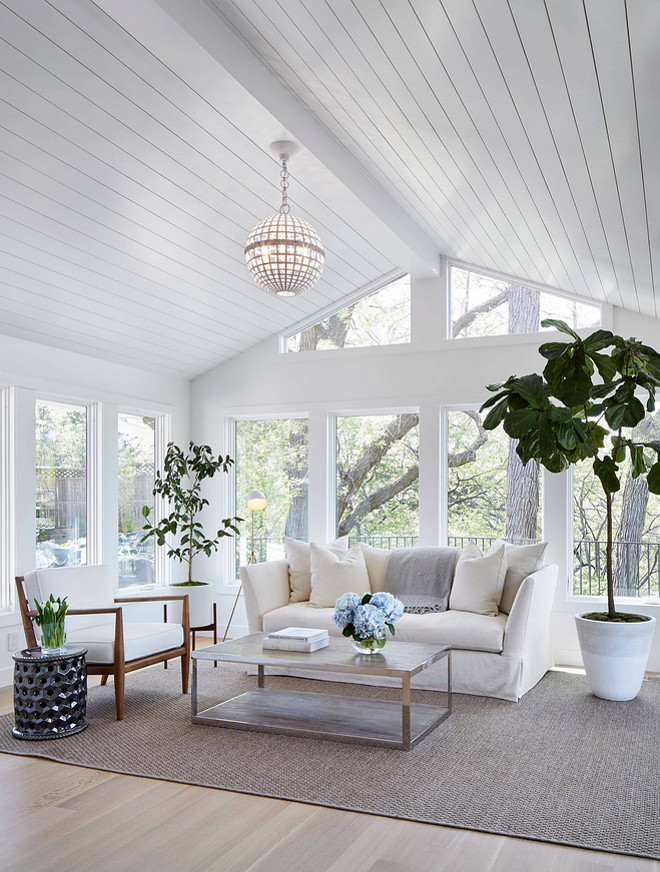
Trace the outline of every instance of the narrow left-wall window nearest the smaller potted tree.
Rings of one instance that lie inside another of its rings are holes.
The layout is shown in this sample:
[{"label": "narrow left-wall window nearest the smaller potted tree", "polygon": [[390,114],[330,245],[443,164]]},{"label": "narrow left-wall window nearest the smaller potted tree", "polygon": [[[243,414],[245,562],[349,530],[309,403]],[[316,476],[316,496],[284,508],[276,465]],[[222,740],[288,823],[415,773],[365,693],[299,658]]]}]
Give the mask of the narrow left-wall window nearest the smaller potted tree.
[{"label": "narrow left-wall window nearest the smaller potted tree", "polygon": [[141,543],[142,507],[154,507],[156,419],[119,415],[119,587],[154,582],[154,539]]}]

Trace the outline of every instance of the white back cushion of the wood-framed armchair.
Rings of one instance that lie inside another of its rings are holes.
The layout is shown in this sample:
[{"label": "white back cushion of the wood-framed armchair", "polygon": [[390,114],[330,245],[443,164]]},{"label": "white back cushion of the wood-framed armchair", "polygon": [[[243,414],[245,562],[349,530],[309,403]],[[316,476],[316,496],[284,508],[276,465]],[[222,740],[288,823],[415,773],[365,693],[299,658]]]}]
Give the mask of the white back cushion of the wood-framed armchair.
[{"label": "white back cushion of the wood-framed armchair", "polygon": [[[70,609],[105,609],[114,607],[115,588],[107,566],[61,566],[56,569],[35,569],[25,575],[25,588],[30,609],[34,601],[44,602],[53,594],[55,599],[67,598]],[[98,615],[68,617],[67,633],[76,629],[105,624]],[[109,617],[109,624],[114,618]]]}]

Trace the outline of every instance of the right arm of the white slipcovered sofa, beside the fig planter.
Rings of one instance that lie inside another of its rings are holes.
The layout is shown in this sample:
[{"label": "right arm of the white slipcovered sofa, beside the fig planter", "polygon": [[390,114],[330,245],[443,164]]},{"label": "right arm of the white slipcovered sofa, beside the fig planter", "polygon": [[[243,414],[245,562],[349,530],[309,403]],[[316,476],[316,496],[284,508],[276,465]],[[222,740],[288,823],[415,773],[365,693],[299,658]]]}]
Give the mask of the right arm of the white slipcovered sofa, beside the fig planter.
[{"label": "right arm of the white slipcovered sofa, beside the fig planter", "polygon": [[502,649],[505,657],[523,657],[547,643],[557,573],[558,567],[548,564],[528,575],[520,585],[506,622]]}]

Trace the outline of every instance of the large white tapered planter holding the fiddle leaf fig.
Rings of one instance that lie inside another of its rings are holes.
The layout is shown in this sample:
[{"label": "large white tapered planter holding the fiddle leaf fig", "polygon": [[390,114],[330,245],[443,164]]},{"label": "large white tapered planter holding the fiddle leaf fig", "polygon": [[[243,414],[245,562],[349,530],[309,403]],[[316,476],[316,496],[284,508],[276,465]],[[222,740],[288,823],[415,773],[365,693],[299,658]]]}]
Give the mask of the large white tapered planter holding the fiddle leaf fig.
[{"label": "large white tapered planter holding the fiddle leaf fig", "polygon": [[582,660],[594,696],[623,701],[639,693],[649,659],[655,618],[634,624],[575,616]]}]

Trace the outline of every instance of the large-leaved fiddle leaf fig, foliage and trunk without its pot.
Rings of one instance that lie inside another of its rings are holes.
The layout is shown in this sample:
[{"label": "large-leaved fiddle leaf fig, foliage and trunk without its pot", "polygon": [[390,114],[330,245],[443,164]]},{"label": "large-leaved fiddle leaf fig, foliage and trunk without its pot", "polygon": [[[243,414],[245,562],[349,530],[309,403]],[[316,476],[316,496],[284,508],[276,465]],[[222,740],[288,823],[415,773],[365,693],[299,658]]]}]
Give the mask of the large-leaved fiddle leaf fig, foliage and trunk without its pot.
[{"label": "large-leaved fiddle leaf fig, foliage and trunk without its pot", "polygon": [[[539,353],[547,360],[542,375],[511,376],[488,385],[494,396],[483,426],[500,424],[512,439],[524,464],[536,460],[550,472],[561,472],[582,460],[593,470],[605,493],[607,523],[607,614],[597,620],[626,621],[637,616],[617,614],[612,572],[612,494],[621,487],[620,470],[630,457],[632,476],[646,476],[649,490],[660,494],[660,442],[634,441],[631,428],[655,409],[660,386],[660,354],[637,339],[623,339],[596,330],[582,339],[563,321],[547,319],[570,337],[547,342]],[[646,404],[638,393],[646,392]]]}]

